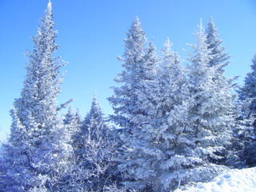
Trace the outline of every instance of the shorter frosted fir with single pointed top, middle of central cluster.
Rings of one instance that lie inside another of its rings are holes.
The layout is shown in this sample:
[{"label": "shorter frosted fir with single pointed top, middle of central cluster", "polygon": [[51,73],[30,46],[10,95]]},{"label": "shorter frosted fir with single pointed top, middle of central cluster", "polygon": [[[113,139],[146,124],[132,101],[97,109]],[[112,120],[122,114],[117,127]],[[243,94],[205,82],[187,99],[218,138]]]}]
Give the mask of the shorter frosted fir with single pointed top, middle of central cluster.
[{"label": "shorter frosted fir with single pointed top, middle of central cluster", "polygon": [[156,103],[158,127],[154,135],[162,149],[159,163],[159,191],[175,190],[186,183],[186,163],[191,158],[186,154],[190,139],[188,110],[190,93],[186,70],[183,69],[178,53],[171,50],[169,38],[162,50],[163,58],[158,72],[158,96]]}]

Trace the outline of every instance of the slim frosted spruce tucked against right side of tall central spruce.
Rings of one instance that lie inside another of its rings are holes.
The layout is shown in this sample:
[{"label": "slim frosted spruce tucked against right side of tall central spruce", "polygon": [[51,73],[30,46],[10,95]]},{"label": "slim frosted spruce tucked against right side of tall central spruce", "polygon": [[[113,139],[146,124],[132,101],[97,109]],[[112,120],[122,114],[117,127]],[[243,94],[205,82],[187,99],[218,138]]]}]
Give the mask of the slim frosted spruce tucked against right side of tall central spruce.
[{"label": "slim frosted spruce tucked against right side of tall central spruce", "polygon": [[[135,102],[135,105],[139,111],[139,114],[133,114],[130,116],[129,121],[135,125],[130,134],[122,136],[126,150],[124,155],[121,158],[121,165],[119,169],[124,173],[124,179],[127,187],[138,190],[150,183],[150,180],[146,181],[145,178],[142,178],[142,171],[147,176],[150,176],[149,172],[152,169],[152,160],[155,161],[155,155],[152,157],[145,154],[146,152],[142,150],[144,147],[145,150],[150,148],[150,133],[146,131],[146,124],[154,118],[154,93],[153,87],[156,87],[156,74],[159,59],[156,56],[155,48],[153,42],[150,42],[150,45],[147,47],[146,54],[144,56],[143,62],[141,63],[140,78],[138,83],[138,90],[134,92],[138,100]],[[146,137],[146,138],[144,138]],[[148,158],[146,158],[148,156]],[[144,158],[144,167],[142,166],[142,158]],[[134,172],[134,170],[136,170]],[[149,171],[149,172],[148,172]],[[154,179],[154,178],[152,178]],[[139,180],[139,181],[138,181]]]}]

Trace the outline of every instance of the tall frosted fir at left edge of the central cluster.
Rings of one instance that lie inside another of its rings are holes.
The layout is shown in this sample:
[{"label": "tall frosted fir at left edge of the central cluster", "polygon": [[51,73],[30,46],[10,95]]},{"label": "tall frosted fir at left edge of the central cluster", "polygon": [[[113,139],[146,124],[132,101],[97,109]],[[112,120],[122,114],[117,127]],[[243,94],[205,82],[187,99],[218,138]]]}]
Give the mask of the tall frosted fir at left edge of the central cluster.
[{"label": "tall frosted fir at left edge of the central cluster", "polygon": [[[126,153],[126,146],[129,145],[128,142],[134,137],[134,131],[136,132],[135,128],[138,126],[138,122],[146,117],[146,110],[142,110],[138,105],[138,94],[142,90],[141,82],[153,75],[150,73],[154,71],[154,66],[150,62],[146,63],[145,59],[147,57],[146,52],[148,56],[154,54],[154,46],[151,44],[147,50],[145,46],[146,34],[142,30],[138,17],[136,17],[125,39],[123,58],[118,58],[123,62],[123,71],[121,74],[118,74],[118,78],[115,78],[115,82],[119,86],[113,87],[114,95],[108,98],[114,110],[114,115],[110,115],[110,119],[122,128],[122,139],[119,143],[119,145],[124,146],[122,155],[120,155],[122,160],[128,158],[129,154]],[[148,70],[149,73],[144,73],[145,70]]]}]

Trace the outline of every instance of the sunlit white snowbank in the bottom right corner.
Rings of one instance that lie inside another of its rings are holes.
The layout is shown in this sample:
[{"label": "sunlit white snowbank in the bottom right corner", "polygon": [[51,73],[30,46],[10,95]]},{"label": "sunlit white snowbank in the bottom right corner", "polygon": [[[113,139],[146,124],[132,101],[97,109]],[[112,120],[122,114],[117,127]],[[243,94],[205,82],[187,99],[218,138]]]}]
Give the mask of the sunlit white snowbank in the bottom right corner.
[{"label": "sunlit white snowbank in the bottom right corner", "polygon": [[227,170],[211,182],[199,182],[197,186],[175,192],[256,192],[256,167],[243,170]]}]

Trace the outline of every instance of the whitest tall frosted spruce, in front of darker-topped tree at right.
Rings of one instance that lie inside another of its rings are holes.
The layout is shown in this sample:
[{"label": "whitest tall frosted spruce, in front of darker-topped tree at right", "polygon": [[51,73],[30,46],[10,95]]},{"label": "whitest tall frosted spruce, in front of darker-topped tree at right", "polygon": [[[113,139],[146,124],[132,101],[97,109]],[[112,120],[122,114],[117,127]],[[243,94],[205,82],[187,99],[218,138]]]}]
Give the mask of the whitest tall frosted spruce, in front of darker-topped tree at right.
[{"label": "whitest tall frosted spruce, in front of darker-topped tree at right", "polygon": [[206,181],[214,172],[223,169],[223,166],[210,163],[210,159],[222,158],[218,152],[229,143],[230,130],[234,126],[230,84],[226,79],[215,79],[219,73],[218,66],[210,66],[213,55],[210,54],[202,22],[196,36],[197,44],[190,45],[194,52],[188,58],[191,98],[188,130],[192,132],[186,152],[191,161],[184,162],[190,167],[187,182]]}]

